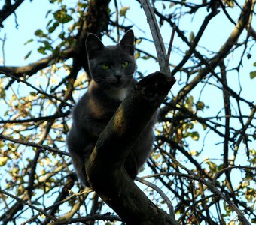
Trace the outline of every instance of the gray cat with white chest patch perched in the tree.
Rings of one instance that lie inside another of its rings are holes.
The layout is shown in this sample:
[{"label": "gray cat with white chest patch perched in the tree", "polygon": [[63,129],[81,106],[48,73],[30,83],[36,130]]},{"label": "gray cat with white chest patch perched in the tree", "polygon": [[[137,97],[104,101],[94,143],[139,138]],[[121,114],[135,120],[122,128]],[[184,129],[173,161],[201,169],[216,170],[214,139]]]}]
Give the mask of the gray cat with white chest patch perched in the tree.
[{"label": "gray cat with white chest patch perched in the tree", "polygon": [[[116,46],[104,46],[96,35],[89,34],[86,47],[92,80],[88,91],[73,110],[73,124],[67,143],[78,178],[83,185],[90,187],[85,164],[99,134],[127,93],[136,85],[136,80],[133,78],[136,69],[134,34],[132,30],[127,31]],[[157,115],[154,115],[149,121],[126,159],[126,172],[133,179],[151,153],[154,139],[152,128],[156,117]]]}]

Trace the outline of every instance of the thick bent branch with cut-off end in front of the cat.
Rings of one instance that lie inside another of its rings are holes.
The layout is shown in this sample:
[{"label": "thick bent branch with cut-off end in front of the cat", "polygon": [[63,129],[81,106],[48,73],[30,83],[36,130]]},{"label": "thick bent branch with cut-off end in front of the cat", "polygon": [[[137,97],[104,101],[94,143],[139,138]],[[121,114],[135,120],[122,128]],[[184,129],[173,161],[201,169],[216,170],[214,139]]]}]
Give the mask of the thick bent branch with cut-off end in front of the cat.
[{"label": "thick bent branch with cut-off end in front of the cat", "polygon": [[91,154],[87,166],[91,186],[127,224],[177,224],[174,214],[157,208],[123,166],[133,142],[174,83],[174,77],[160,72],[142,79],[117,109]]}]

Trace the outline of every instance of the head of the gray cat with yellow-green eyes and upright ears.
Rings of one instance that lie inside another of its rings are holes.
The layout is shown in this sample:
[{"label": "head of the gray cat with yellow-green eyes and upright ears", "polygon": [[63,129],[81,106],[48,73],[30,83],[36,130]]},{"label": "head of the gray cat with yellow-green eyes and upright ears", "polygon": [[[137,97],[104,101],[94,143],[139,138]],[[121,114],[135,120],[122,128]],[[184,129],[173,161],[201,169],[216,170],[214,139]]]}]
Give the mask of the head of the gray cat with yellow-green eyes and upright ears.
[{"label": "head of the gray cat with yellow-green eyes and upright ears", "polygon": [[96,83],[106,88],[129,86],[136,68],[132,30],[116,46],[104,46],[96,35],[89,34],[86,47],[90,76]]}]

